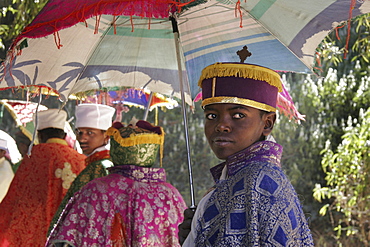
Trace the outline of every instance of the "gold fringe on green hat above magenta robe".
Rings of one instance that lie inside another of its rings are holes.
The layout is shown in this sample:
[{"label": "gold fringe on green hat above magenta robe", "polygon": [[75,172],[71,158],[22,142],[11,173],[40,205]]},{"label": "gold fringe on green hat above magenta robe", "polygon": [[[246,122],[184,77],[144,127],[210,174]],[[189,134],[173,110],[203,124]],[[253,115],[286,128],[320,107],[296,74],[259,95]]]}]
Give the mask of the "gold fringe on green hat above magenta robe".
[{"label": "gold fringe on green hat above magenta robe", "polygon": [[140,133],[140,134],[131,134],[129,137],[122,137],[119,130],[114,127],[110,127],[106,133],[108,136],[112,136],[113,139],[122,147],[131,147],[139,144],[158,144],[160,146],[159,157],[160,165],[162,167],[165,133],[163,128],[162,127],[160,128],[162,133],[160,135],[157,133]]}]

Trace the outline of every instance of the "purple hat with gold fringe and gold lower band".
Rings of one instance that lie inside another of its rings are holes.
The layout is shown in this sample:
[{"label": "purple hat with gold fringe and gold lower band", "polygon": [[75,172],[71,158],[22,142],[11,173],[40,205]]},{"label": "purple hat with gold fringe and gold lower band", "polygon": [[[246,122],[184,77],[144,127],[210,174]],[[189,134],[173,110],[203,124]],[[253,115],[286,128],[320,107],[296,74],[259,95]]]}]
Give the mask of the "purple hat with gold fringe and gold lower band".
[{"label": "purple hat with gold fringe and gold lower band", "polygon": [[198,85],[202,107],[231,103],[275,112],[278,93],[283,90],[280,75],[266,67],[245,63],[215,63],[205,67]]}]

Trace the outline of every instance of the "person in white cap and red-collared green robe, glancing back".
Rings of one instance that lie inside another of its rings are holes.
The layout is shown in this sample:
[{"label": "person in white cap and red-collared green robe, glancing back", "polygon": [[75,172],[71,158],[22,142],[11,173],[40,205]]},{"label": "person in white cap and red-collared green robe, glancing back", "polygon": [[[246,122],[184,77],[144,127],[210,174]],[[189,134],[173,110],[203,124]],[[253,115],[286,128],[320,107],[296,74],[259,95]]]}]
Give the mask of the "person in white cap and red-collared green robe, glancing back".
[{"label": "person in white cap and red-collared green robe, glancing back", "polygon": [[59,205],[49,233],[69,199],[91,180],[108,175],[108,167],[113,166],[107,147],[109,136],[106,130],[112,126],[115,109],[100,104],[80,104],[76,107],[76,137],[83,153],[87,156],[86,168],[77,176]]}]

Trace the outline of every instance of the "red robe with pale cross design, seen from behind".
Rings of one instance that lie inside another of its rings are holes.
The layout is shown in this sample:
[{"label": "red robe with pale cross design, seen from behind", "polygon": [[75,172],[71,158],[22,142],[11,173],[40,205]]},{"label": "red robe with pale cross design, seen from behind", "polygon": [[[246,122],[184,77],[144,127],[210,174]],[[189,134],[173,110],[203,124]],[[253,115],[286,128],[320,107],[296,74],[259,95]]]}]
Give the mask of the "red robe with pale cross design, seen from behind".
[{"label": "red robe with pale cross design, seen from behind", "polygon": [[85,156],[52,138],[24,157],[0,204],[0,246],[44,246],[50,221]]}]

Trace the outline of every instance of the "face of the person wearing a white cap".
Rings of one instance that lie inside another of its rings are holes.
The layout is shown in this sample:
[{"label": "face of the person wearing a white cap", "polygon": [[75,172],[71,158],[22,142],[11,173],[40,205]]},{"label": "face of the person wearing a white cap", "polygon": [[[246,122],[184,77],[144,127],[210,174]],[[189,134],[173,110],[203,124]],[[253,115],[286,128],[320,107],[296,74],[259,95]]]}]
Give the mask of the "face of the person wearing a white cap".
[{"label": "face of the person wearing a white cap", "polygon": [[94,128],[78,128],[76,136],[85,155],[89,155],[96,148],[104,146],[109,139],[109,136],[104,131]]}]

